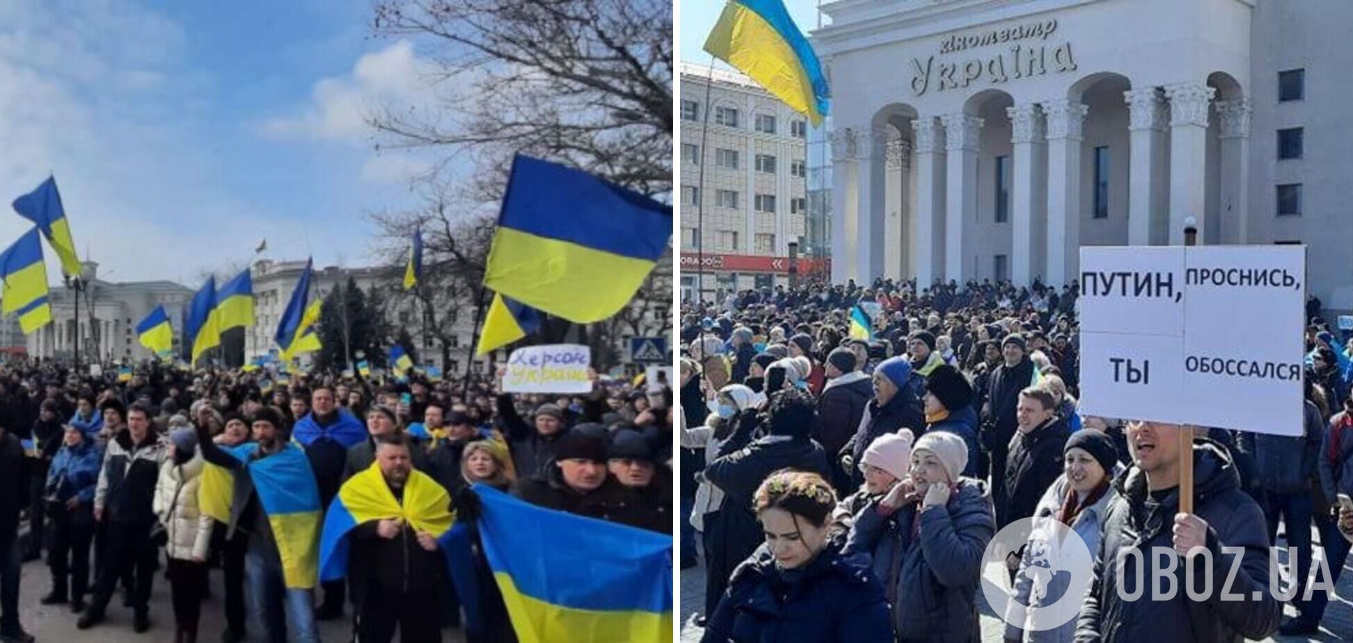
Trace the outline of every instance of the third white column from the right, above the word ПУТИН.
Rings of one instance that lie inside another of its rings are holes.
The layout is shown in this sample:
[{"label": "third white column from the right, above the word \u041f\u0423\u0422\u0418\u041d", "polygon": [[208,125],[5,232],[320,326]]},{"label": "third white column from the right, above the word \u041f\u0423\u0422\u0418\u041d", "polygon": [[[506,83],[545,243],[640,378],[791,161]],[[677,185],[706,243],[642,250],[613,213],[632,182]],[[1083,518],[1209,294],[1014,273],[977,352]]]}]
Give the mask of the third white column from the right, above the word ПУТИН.
[{"label": "third white column from the right, above the word \u041f\u0423\u0422\u0418\u041d", "polygon": [[1165,102],[1154,87],[1123,92],[1128,114],[1127,242],[1160,245],[1166,241],[1165,190],[1157,175],[1164,153]]}]

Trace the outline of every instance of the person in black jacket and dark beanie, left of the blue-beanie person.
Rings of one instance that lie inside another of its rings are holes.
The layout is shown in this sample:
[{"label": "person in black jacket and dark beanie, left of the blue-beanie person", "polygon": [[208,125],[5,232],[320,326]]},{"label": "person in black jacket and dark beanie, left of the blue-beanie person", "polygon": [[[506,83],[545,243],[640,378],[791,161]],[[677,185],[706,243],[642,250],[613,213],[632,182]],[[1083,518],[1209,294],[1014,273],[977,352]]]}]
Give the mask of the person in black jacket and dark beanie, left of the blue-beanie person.
[{"label": "person in black jacket and dark beanie, left of the blue-beanie person", "polygon": [[[812,436],[827,453],[840,453],[859,429],[869,401],[874,398],[870,376],[856,371],[855,353],[848,348],[838,348],[827,356],[827,386],[817,399],[817,420],[813,421]],[[829,458],[831,483],[836,493],[848,494],[855,489],[851,474],[842,468],[836,458]]]}]

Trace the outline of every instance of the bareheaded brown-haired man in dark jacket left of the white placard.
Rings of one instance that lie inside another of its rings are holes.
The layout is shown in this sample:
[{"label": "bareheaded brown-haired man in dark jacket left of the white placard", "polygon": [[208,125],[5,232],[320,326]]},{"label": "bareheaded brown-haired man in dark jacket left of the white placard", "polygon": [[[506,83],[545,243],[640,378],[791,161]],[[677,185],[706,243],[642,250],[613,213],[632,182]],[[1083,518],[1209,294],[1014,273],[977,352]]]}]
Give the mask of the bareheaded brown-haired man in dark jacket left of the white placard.
[{"label": "bareheaded brown-haired man in dark jacket left of the white placard", "polygon": [[1031,386],[1020,391],[1016,417],[1019,429],[1011,439],[1001,498],[1005,524],[997,528],[1034,516],[1039,498],[1062,475],[1062,451],[1070,437],[1070,429],[1057,414],[1057,401],[1046,389]]}]

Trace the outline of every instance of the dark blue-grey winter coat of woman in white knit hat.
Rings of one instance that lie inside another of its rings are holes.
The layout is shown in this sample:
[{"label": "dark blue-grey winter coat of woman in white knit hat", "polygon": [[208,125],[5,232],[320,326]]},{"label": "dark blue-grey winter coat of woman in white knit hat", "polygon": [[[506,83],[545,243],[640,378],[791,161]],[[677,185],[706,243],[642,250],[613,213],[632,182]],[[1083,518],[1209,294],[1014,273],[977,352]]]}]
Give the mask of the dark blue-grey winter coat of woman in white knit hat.
[{"label": "dark blue-grey winter coat of woman in white knit hat", "polygon": [[977,642],[977,586],[994,535],[986,486],[959,478],[943,506],[913,502],[888,514],[869,504],[855,514],[847,551],[873,555],[892,600],[897,640]]}]

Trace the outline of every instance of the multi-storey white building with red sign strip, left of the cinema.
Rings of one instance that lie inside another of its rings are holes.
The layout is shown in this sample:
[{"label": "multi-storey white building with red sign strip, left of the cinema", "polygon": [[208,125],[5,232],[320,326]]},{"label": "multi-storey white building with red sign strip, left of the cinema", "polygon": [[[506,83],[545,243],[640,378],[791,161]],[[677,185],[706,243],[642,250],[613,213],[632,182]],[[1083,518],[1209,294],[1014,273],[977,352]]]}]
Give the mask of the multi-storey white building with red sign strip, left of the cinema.
[{"label": "multi-storey white building with red sign strip, left of the cinema", "polygon": [[810,245],[808,120],[740,73],[682,64],[681,83],[682,298],[787,283],[790,244]]}]

